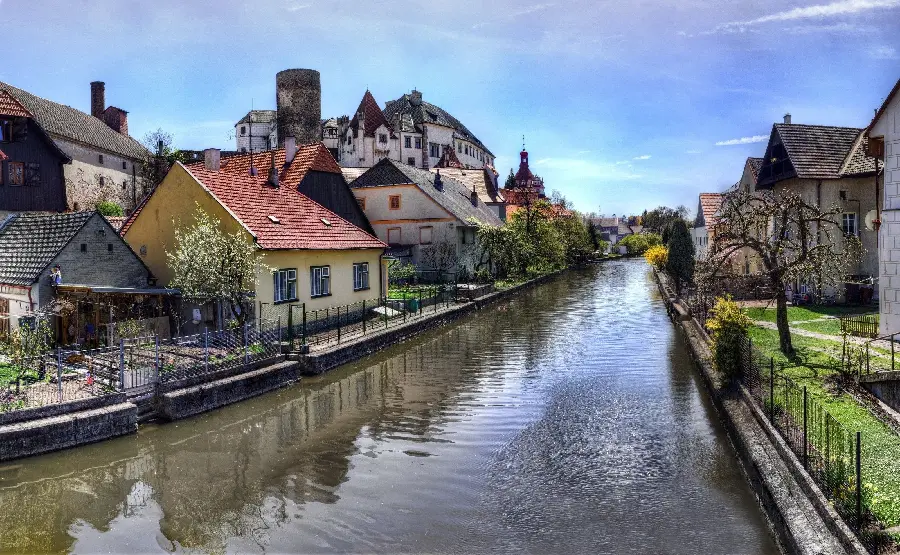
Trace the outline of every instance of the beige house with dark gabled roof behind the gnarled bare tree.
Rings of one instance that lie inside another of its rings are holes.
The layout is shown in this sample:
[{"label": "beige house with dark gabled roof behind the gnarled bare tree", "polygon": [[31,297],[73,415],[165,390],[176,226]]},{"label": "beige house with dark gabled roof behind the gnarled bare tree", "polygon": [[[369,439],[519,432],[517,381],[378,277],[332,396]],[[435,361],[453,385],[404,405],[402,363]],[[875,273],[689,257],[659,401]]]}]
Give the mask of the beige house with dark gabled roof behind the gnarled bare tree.
[{"label": "beige house with dark gabled roof behind the gnarled bare tree", "polygon": [[[871,292],[878,276],[876,232],[864,225],[877,211],[876,161],[865,147],[864,129],[794,124],[788,114],[772,126],[756,181],[757,190],[790,190],[818,206],[840,207],[842,231],[859,237],[866,250],[843,290],[835,292],[851,302],[864,299],[860,291]],[[818,291],[815,281],[815,276],[798,279],[794,290]]]}]

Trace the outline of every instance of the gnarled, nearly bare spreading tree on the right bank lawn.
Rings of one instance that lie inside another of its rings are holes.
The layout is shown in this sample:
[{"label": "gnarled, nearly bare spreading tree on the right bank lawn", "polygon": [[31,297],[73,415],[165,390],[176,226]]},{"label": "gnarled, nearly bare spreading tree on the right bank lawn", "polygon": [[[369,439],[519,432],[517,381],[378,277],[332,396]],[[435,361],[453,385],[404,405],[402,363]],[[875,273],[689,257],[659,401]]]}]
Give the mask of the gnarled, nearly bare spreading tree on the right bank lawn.
[{"label": "gnarled, nearly bare spreading tree on the right bank lawn", "polygon": [[710,288],[739,253],[754,253],[774,290],[781,352],[793,354],[787,288],[796,279],[837,286],[862,257],[859,238],[842,232],[840,214],[839,206],[823,210],[790,190],[726,193],[698,281]]}]

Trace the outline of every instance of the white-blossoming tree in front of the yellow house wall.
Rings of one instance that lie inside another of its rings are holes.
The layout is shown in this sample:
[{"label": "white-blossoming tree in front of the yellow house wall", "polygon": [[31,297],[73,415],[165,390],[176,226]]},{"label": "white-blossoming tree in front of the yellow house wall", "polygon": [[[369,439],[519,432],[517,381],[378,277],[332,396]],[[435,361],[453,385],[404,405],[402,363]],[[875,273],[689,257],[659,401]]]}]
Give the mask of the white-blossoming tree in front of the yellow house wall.
[{"label": "white-blossoming tree in front of the yellow house wall", "polygon": [[200,206],[191,225],[175,225],[175,245],[166,251],[175,272],[171,286],[191,302],[220,301],[243,326],[257,275],[264,269],[257,247],[244,233],[226,233]]}]

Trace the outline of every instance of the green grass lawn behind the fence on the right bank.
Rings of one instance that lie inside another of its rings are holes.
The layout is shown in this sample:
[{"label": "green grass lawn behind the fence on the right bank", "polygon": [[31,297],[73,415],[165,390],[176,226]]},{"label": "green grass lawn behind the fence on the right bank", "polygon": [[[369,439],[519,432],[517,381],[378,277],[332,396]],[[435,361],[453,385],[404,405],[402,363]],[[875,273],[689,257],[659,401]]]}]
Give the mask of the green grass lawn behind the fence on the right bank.
[{"label": "green grass lawn behind the fence on the right bank", "polygon": [[750,336],[767,356],[775,358],[776,368],[784,364],[784,374],[807,392],[847,430],[862,432],[863,483],[874,492],[871,509],[887,527],[900,524],[900,436],[878,420],[868,409],[846,393],[832,393],[825,378],[840,364],[840,341],[827,341],[794,335],[797,356],[788,360],[778,350],[778,332],[753,327]]}]

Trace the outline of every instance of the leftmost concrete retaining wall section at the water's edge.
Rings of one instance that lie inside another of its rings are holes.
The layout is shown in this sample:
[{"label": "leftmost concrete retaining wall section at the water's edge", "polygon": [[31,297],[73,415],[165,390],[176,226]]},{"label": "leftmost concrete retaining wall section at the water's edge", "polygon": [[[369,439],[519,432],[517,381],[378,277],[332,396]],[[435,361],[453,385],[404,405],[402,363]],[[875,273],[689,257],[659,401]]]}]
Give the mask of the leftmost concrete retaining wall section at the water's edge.
[{"label": "leftmost concrete retaining wall section at the water's edge", "polygon": [[132,403],[0,426],[0,461],[84,445],[137,431]]}]

